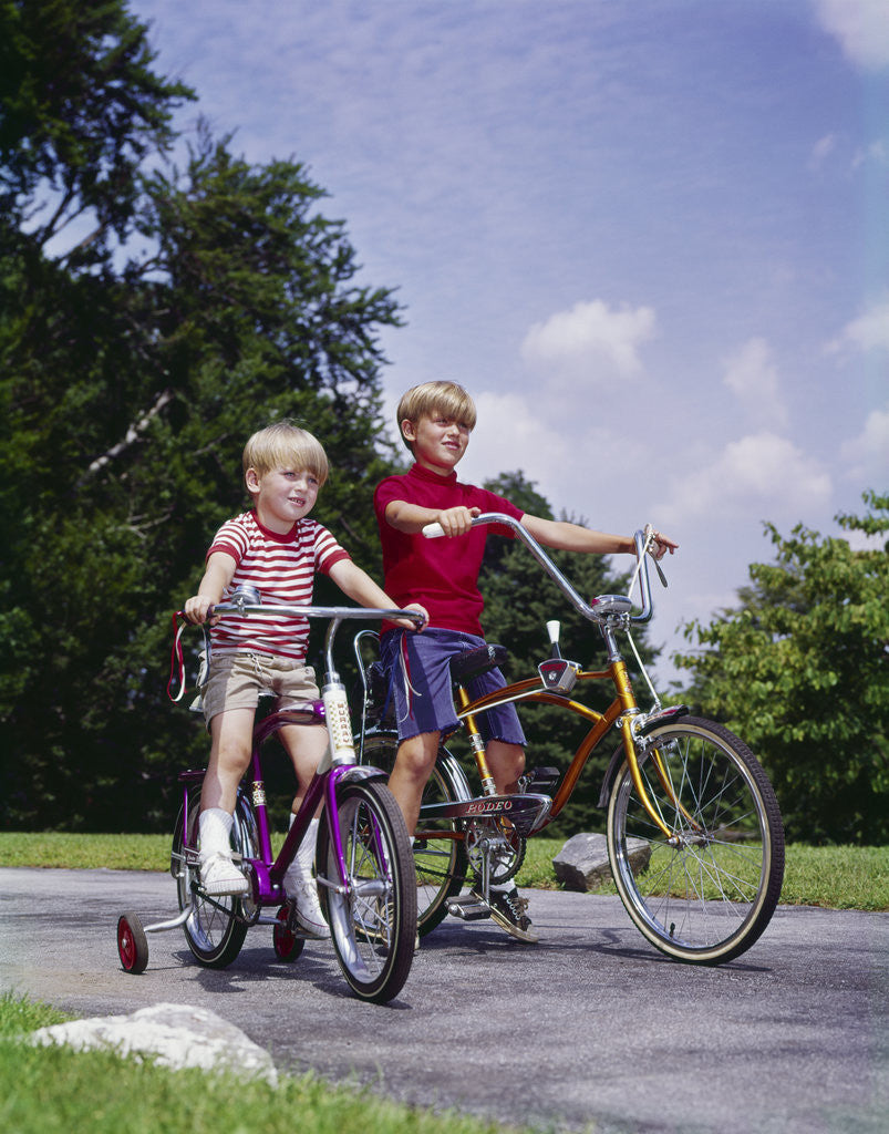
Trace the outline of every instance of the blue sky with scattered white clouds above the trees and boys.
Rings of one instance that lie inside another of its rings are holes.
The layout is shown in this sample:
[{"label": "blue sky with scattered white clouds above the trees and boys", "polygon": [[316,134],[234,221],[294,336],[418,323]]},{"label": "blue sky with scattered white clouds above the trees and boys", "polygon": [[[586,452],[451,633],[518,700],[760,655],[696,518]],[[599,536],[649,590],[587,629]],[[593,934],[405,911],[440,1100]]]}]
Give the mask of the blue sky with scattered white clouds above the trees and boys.
[{"label": "blue sky with scattered white clouds above the trees and boys", "polygon": [[662,687],[764,522],[839,534],[889,490],[887,0],[129,6],[200,95],[177,126],[302,162],[397,288],[390,418],[458,381],[462,479],[677,540]]}]

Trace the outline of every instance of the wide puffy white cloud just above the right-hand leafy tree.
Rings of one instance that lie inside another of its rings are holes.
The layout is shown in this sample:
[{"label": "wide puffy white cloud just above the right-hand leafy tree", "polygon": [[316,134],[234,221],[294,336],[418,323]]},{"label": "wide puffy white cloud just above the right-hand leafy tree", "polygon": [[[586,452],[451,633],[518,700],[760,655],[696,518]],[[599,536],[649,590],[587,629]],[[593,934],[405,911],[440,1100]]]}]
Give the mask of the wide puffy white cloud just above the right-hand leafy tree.
[{"label": "wide puffy white cloud just above the right-hand leafy tree", "polygon": [[823,508],[831,481],[823,466],[776,433],[750,434],[730,441],[705,465],[675,481],[672,498],[658,510],[663,523],[725,511],[755,511],[778,518]]}]

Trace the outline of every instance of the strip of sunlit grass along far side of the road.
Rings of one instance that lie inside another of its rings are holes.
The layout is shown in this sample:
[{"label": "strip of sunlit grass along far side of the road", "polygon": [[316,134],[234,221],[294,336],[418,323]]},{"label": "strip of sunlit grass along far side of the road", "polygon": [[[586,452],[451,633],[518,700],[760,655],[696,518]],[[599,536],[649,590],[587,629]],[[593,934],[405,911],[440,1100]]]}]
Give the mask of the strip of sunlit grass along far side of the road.
[{"label": "strip of sunlit grass along far side of the road", "polygon": [[[552,860],[564,843],[531,839],[518,885],[559,889]],[[0,832],[0,866],[168,870],[169,856],[167,835]],[[833,909],[889,909],[889,847],[789,846],[781,902]]]}]

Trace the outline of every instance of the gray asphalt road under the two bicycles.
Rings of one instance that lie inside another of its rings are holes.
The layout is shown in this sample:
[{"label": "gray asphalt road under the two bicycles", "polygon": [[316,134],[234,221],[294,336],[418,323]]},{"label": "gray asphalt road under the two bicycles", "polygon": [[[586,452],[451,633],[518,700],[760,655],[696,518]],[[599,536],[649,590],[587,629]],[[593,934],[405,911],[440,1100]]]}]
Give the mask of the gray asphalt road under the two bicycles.
[{"label": "gray asphalt road under the two bicycles", "polygon": [[124,973],[117,916],[175,913],[168,874],[0,869],[0,988],[83,1016],[210,1008],[286,1072],[599,1134],[889,1129],[889,914],[782,906],[744,957],[677,965],[617,898],[528,891],[541,943],[448,919],[400,997],[349,996],[330,945],[278,962],[256,926],[225,972],[181,931]]}]

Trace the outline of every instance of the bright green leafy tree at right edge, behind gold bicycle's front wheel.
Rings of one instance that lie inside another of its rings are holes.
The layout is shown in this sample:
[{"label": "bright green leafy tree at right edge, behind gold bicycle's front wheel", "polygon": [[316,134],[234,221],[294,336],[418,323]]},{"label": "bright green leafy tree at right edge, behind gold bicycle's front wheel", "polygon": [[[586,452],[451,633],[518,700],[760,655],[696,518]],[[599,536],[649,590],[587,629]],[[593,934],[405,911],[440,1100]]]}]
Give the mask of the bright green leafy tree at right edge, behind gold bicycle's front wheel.
[{"label": "bright green leafy tree at right edge, behind gold bicycle's front wheel", "polygon": [[[838,522],[884,539],[889,496],[864,499],[867,515]],[[677,659],[693,675],[687,695],[760,755],[790,838],[884,843],[889,544],[767,531],[776,561],[751,566],[738,607],[686,629],[704,648]]]}]

